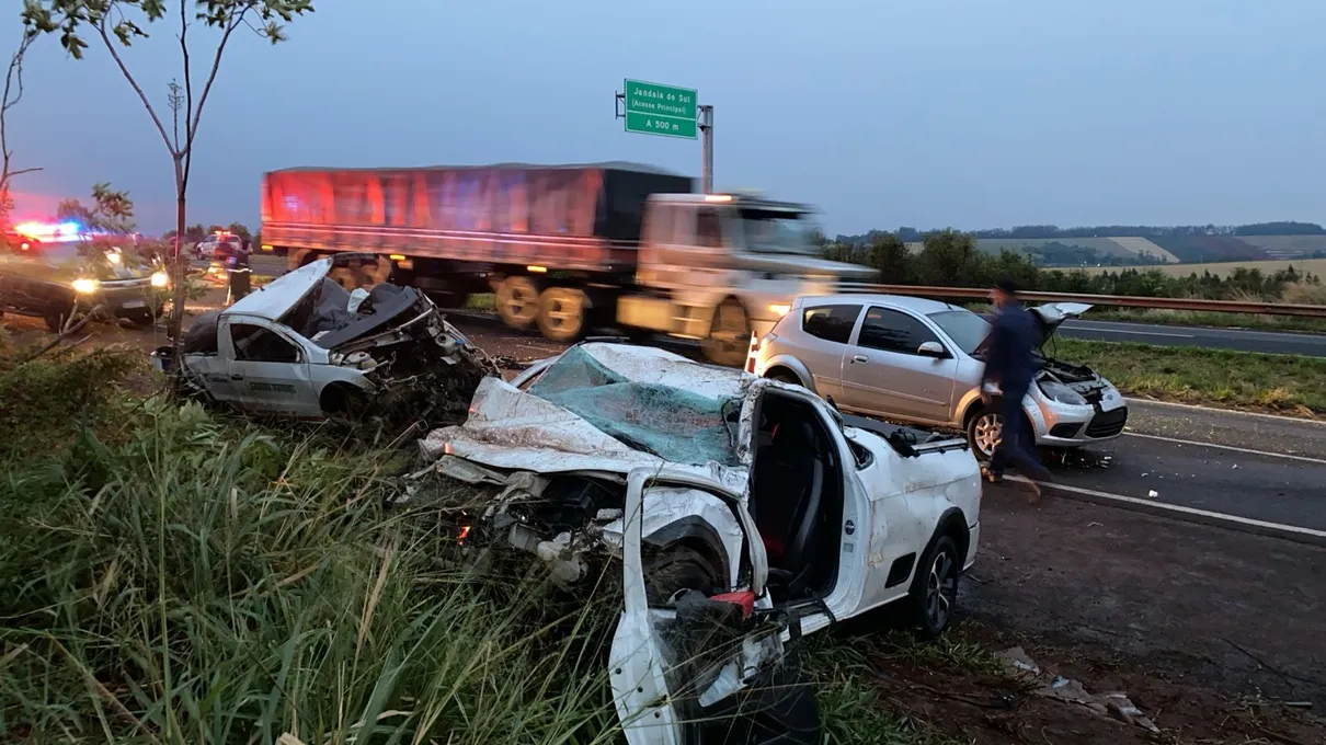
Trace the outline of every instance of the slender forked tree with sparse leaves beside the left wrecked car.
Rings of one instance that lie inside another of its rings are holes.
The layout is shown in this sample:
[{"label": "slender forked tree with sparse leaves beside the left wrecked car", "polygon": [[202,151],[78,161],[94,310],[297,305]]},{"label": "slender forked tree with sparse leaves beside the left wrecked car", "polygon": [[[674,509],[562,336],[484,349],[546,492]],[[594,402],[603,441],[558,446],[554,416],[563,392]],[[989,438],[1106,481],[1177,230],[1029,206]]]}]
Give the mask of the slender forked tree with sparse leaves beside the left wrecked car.
[{"label": "slender forked tree with sparse leaves beside the left wrecked car", "polygon": [[[192,5],[192,11],[190,11],[190,5]],[[285,40],[281,24],[290,23],[294,16],[313,12],[313,0],[192,0],[191,3],[178,0],[176,8],[179,11],[176,38],[179,40],[183,66],[183,86],[175,81],[171,81],[170,85],[168,107],[174,114],[172,131],[167,131],[158,107],[152,105],[121,54],[121,49],[130,46],[134,40],[147,38],[145,27],[166,19],[170,12],[166,0],[24,0],[23,21],[28,34],[58,33],[60,44],[76,60],[81,60],[84,50],[88,49],[84,34],[101,41],[143,107],[147,109],[152,125],[174,160],[175,235],[180,236],[186,232],[187,224],[186,201],[190,168],[194,162],[194,141],[198,135],[207,97],[212,90],[212,84],[216,82],[227,44],[241,28],[253,30],[272,44]],[[192,58],[190,56],[188,32],[195,25],[220,32],[211,68],[202,87],[194,85]],[[183,117],[180,117],[182,113]],[[180,134],[180,123],[184,129],[183,135]],[[184,317],[184,273],[188,268],[188,257],[180,251],[179,241],[175,243],[174,255],[175,302],[171,309],[170,333],[176,346],[176,354],[172,359],[179,359],[178,346]]]}]

